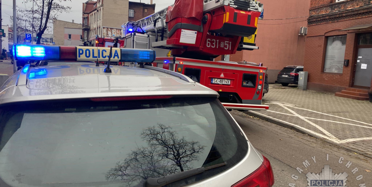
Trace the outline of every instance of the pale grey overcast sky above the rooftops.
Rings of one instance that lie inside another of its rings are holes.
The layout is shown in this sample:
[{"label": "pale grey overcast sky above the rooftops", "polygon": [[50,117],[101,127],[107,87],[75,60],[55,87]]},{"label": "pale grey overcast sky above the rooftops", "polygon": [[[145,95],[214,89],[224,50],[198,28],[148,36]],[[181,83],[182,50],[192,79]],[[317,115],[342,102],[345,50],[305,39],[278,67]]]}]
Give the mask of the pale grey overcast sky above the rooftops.
[{"label": "pale grey overcast sky above the rooftops", "polygon": [[[75,23],[81,23],[81,12],[82,12],[82,3],[86,2],[87,0],[71,0],[62,3],[64,6],[70,6],[71,12],[68,13],[61,13],[58,16],[59,20],[64,20],[71,22],[75,20]],[[129,0],[134,2],[142,2],[142,3],[150,3],[150,0]],[[161,10],[171,4],[174,3],[174,0],[153,0],[156,4],[155,11]],[[11,25],[10,24],[10,16],[13,15],[13,2],[11,0],[3,0],[2,1],[2,9],[1,9],[1,16],[3,19],[2,25]],[[32,9],[32,4],[24,4],[24,0],[17,0],[17,9]],[[120,23],[122,24],[122,23]]]}]

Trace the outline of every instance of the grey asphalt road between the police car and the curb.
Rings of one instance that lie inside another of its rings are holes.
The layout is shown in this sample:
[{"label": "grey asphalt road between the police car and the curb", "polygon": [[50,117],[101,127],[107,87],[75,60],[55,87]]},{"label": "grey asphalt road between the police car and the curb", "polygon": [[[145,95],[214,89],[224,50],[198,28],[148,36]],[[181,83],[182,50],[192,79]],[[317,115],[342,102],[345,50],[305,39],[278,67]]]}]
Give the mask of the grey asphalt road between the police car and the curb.
[{"label": "grey asphalt road between the police car and the curb", "polygon": [[[333,175],[346,172],[348,187],[359,187],[360,184],[372,186],[372,159],[291,129],[250,117],[242,112],[232,111],[231,114],[253,146],[270,160],[275,175],[275,187],[289,186],[289,183],[295,184],[296,187],[306,187],[308,186],[306,174],[311,172],[316,175],[322,172],[324,165],[329,165]],[[305,160],[310,164],[308,167],[302,163]],[[349,161],[349,168],[347,168]],[[296,170],[297,167],[303,170],[301,174]],[[355,168],[357,171],[353,174]],[[325,169],[323,173],[326,172],[330,173]],[[298,179],[291,178],[292,175],[294,178],[298,176]],[[343,178],[338,178],[341,179]]]}]

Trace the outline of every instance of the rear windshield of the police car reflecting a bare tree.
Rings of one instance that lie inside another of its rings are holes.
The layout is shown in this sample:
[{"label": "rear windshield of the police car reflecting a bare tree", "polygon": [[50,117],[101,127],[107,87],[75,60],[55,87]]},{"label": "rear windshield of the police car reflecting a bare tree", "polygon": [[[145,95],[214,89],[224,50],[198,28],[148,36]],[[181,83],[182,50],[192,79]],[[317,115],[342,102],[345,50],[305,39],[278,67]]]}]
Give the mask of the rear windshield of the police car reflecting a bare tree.
[{"label": "rear windshield of the police car reflecting a bare tree", "polygon": [[[100,102],[97,102],[100,101]],[[1,187],[134,187],[149,177],[238,163],[247,141],[217,98],[29,102],[0,107]]]}]

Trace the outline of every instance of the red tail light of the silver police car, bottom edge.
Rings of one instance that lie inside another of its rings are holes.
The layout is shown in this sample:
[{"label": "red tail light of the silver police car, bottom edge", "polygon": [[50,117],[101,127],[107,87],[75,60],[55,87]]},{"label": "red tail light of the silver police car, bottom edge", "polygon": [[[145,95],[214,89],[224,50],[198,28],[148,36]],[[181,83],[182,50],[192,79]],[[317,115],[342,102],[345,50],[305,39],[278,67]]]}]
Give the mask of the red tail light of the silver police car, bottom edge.
[{"label": "red tail light of the silver police car, bottom edge", "polygon": [[270,161],[263,157],[263,164],[253,173],[235,183],[231,187],[272,187],[274,174]]}]

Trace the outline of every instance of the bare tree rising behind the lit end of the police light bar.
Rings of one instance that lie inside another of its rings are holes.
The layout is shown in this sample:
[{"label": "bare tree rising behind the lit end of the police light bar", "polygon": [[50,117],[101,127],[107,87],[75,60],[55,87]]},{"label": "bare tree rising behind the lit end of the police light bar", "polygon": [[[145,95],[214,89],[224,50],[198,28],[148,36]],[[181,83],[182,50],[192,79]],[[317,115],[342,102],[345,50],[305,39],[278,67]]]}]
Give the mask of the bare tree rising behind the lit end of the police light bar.
[{"label": "bare tree rising behind the lit end of the police light bar", "polygon": [[33,3],[35,9],[19,10],[20,20],[28,23],[32,31],[36,33],[38,40],[36,44],[40,44],[41,37],[45,30],[50,28],[53,19],[57,18],[58,13],[68,12],[71,7],[62,6],[60,3],[71,0],[26,0],[26,3]]}]

